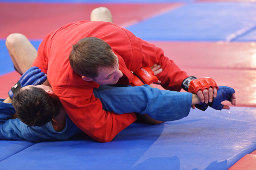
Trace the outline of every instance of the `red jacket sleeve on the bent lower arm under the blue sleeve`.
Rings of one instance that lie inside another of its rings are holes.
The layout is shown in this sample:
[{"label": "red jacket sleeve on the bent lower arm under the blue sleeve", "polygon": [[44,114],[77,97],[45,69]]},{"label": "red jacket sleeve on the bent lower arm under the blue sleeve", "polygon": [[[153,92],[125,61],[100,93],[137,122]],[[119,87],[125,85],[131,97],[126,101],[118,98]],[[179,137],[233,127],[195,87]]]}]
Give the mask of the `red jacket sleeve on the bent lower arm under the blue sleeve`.
[{"label": "red jacket sleeve on the bent lower arm under the blue sleeve", "polygon": [[[67,87],[62,90],[64,93],[69,91],[70,94],[74,88]],[[82,94],[78,96],[77,91],[74,91],[73,96],[59,95],[59,99],[76,126],[96,141],[112,141],[120,131],[136,120],[134,113],[115,114],[103,110],[101,101],[95,98],[92,89],[83,89]]]}]

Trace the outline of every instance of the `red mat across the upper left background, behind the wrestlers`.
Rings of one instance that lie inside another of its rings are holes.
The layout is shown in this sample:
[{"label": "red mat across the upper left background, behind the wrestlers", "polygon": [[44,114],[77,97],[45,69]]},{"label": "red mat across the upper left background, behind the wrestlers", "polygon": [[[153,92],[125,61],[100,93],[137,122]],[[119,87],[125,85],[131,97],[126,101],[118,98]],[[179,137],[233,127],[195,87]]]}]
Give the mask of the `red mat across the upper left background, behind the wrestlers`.
[{"label": "red mat across the upper left background, behind the wrestlers", "polygon": [[74,21],[90,20],[94,8],[110,9],[113,22],[122,27],[156,16],[182,3],[168,4],[40,4],[0,3],[0,38],[22,33],[29,39],[43,39],[49,32]]}]

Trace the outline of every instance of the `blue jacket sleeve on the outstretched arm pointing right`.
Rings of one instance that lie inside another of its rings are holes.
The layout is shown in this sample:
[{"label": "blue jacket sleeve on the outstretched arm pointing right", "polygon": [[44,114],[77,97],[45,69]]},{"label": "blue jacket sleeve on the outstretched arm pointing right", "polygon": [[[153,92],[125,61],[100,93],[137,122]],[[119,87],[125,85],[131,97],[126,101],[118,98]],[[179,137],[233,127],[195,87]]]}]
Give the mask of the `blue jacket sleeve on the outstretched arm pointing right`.
[{"label": "blue jacket sleeve on the outstretched arm pointing right", "polygon": [[189,114],[192,94],[159,90],[148,85],[136,87],[100,86],[94,94],[103,109],[117,114],[138,112],[161,121],[181,119]]}]

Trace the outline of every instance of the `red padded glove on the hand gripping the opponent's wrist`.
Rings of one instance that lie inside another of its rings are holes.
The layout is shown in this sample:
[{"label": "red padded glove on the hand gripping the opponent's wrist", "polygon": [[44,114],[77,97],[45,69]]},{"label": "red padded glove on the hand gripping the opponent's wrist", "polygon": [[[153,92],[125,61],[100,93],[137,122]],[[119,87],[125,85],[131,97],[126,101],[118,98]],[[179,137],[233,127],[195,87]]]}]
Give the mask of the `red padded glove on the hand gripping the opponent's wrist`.
[{"label": "red padded glove on the hand gripping the opponent's wrist", "polygon": [[199,78],[199,79],[192,80],[189,83],[188,92],[197,94],[199,90],[202,90],[202,91],[204,89],[208,90],[210,87],[212,88],[216,87],[217,90],[219,89],[219,87],[217,86],[217,84],[212,78],[210,77]]}]

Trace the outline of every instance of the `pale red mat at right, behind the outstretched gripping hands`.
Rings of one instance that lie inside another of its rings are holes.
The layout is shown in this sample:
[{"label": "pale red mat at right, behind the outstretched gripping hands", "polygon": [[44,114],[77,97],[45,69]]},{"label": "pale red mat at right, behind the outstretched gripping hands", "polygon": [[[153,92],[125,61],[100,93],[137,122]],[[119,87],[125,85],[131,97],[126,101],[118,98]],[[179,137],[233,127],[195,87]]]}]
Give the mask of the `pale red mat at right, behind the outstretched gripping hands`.
[{"label": "pale red mat at right, behind the outstretched gripping hands", "polygon": [[237,106],[256,107],[256,43],[152,43],[162,48],[165,55],[188,75],[211,77],[219,86],[234,88]]}]

